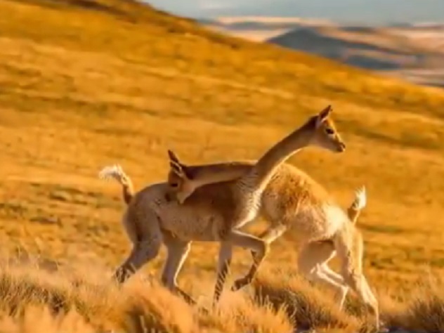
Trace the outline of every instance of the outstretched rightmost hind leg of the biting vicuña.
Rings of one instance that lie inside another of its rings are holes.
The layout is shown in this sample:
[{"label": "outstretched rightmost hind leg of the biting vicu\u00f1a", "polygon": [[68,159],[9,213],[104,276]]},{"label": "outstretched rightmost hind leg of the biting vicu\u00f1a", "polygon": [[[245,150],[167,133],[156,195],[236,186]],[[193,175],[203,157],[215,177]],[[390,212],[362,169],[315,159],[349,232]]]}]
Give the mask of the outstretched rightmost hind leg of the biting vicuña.
[{"label": "outstretched rightmost hind leg of the biting vicu\u00f1a", "polygon": [[357,267],[358,263],[355,262],[356,259],[353,258],[351,252],[351,237],[349,237],[344,230],[341,230],[337,235],[334,235],[333,240],[337,256],[341,261],[341,275],[344,278],[344,282],[358,294],[359,298],[362,299],[365,305],[372,311],[375,317],[375,325],[377,329],[379,329],[378,301],[372,293],[367,279]]}]

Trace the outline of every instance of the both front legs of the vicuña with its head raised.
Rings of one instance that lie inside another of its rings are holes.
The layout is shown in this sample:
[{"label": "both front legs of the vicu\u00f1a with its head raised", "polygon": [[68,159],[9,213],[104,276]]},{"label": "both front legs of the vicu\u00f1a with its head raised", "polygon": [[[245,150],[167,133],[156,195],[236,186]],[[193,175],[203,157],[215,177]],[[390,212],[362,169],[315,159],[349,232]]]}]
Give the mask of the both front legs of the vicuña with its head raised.
[{"label": "both front legs of the vicu\u00f1a with its head raised", "polygon": [[257,268],[259,268],[261,262],[268,253],[268,244],[259,237],[242,233],[239,230],[231,230],[226,239],[221,242],[221,248],[219,250],[218,276],[216,287],[214,289],[214,305],[220,299],[223,285],[225,284],[226,276],[231,263],[233,245],[250,249],[254,252],[254,264],[251,270],[252,276],[247,276],[247,279],[249,280],[252,280]]}]

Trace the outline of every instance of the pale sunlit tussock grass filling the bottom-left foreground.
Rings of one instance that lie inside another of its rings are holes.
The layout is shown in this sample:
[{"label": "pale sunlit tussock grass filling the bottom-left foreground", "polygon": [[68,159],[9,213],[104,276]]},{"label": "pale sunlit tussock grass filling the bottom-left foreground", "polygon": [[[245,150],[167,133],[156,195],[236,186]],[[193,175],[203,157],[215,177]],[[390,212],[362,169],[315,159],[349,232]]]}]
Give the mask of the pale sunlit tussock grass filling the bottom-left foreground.
[{"label": "pale sunlit tussock grass filling the bottom-left foreground", "polygon": [[[82,280],[79,273],[85,273]],[[282,311],[257,306],[248,298],[229,299],[230,306],[203,313],[188,306],[153,280],[131,279],[117,287],[110,275],[82,267],[49,273],[31,264],[0,270],[0,313],[18,332],[290,332]],[[38,318],[37,326],[32,320]],[[41,325],[41,327],[39,326]],[[71,325],[71,326],[70,326]],[[37,329],[31,331],[30,329]],[[48,331],[44,331],[48,329]],[[207,330],[205,330],[207,329]],[[12,332],[12,331],[11,331]]]}]

